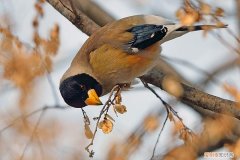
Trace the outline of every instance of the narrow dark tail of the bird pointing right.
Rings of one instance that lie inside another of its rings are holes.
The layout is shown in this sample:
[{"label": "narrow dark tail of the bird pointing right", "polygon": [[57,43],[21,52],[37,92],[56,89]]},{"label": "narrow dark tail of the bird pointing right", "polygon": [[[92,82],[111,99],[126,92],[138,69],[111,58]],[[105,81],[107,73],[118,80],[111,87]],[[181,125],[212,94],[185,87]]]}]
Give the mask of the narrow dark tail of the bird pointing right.
[{"label": "narrow dark tail of the bird pointing right", "polygon": [[211,29],[218,29],[218,28],[227,28],[228,25],[196,25],[196,26],[182,26],[178,28],[176,31],[199,31],[199,30],[211,30]]}]

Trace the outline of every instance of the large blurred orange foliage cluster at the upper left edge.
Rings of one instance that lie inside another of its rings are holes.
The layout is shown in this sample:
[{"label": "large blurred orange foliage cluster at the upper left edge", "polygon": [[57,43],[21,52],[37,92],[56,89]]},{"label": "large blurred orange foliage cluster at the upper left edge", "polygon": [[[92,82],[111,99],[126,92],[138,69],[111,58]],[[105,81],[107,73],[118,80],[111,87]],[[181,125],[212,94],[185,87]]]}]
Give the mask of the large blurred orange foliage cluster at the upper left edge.
[{"label": "large blurred orange foliage cluster at the upper left edge", "polygon": [[49,40],[41,38],[38,34],[37,17],[33,20],[33,27],[35,28],[33,35],[35,47],[32,49],[19,41],[9,29],[0,28],[0,65],[3,67],[3,78],[11,81],[20,89],[21,107],[26,104],[34,80],[51,70],[52,57],[56,55],[60,44],[58,25],[51,30]]}]

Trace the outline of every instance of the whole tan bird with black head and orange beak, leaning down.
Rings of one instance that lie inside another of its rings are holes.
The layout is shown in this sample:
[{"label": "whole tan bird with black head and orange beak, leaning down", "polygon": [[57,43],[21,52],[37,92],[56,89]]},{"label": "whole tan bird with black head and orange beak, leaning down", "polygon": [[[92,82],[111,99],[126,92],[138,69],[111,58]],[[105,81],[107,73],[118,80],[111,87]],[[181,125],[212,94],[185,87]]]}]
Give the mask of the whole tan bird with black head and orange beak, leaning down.
[{"label": "whole tan bird with black head and orange beak, leaning down", "polygon": [[128,84],[156,65],[161,44],[209,27],[225,26],[186,26],[155,15],[110,22],[82,45],[60,80],[60,93],[75,108],[102,105],[99,97],[115,85]]}]

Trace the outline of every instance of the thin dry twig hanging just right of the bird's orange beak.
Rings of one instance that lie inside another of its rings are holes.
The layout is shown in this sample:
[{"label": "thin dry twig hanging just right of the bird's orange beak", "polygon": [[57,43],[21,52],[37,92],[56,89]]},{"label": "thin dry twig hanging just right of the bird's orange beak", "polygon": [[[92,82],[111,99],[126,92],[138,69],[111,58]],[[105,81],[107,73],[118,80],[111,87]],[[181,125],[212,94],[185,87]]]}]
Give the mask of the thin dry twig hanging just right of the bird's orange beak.
[{"label": "thin dry twig hanging just right of the bird's orange beak", "polygon": [[[107,108],[109,108],[110,105],[111,105],[111,104],[113,103],[113,101],[115,100],[116,94],[115,94],[115,96],[114,96],[113,99],[112,99],[113,93],[114,93],[115,91],[116,91],[116,92],[119,92],[119,90],[120,90],[120,86],[119,86],[119,85],[116,85],[116,86],[113,87],[113,89],[111,90],[110,95],[109,95],[109,97],[108,97],[108,100],[105,102],[102,110],[100,111],[100,114],[99,114],[99,116],[98,116],[97,123],[96,123],[96,126],[95,126],[95,130],[94,130],[94,132],[93,132],[93,137],[92,137],[92,139],[91,139],[91,142],[85,147],[85,150],[89,153],[89,157],[93,157],[93,154],[94,154],[93,150],[91,150],[91,151],[89,150],[89,147],[93,145],[93,142],[94,142],[94,139],[95,139],[97,130],[98,130],[98,125],[99,125],[99,122],[100,122],[100,120],[101,120],[101,117],[102,117],[102,115],[103,115],[105,112],[108,111]],[[106,109],[107,109],[107,110],[106,110]]]}]

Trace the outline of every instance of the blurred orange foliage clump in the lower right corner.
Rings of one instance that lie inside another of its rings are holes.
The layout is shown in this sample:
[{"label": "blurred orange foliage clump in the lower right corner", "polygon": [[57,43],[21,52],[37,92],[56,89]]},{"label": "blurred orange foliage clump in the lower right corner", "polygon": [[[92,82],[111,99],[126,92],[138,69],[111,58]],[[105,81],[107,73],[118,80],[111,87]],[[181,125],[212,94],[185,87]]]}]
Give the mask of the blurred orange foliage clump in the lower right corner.
[{"label": "blurred orange foliage clump in the lower right corner", "polygon": [[[187,141],[185,140],[187,143],[173,148],[163,159],[196,159],[199,151],[204,151],[223,138],[231,136],[231,131],[235,126],[234,121],[227,116],[218,116],[215,119],[207,118],[204,120],[204,124],[203,131],[198,135],[187,135],[188,132],[182,134],[182,139],[187,138]],[[183,126],[180,123],[176,128],[182,129]]]}]

